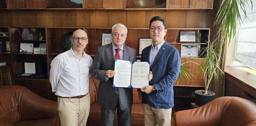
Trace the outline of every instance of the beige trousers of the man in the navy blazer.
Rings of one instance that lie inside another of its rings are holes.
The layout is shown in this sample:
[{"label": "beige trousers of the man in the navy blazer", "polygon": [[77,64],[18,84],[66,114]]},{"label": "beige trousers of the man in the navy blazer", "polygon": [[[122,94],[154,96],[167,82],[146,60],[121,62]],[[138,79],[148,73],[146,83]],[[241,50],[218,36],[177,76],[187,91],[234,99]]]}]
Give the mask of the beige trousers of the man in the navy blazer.
[{"label": "beige trousers of the man in the navy blazer", "polygon": [[145,126],[171,126],[172,108],[156,109],[143,104]]}]

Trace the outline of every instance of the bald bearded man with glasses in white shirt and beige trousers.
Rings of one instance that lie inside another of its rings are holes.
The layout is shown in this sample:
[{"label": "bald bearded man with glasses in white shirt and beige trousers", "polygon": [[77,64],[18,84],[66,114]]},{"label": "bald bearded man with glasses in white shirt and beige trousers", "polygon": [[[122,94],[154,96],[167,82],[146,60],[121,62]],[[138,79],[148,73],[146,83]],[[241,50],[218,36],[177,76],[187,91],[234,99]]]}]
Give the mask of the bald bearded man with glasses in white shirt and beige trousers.
[{"label": "bald bearded man with glasses in white shirt and beige trousers", "polygon": [[92,58],[84,53],[88,43],[82,29],[73,32],[73,47],[56,56],[51,63],[50,83],[58,96],[61,126],[86,126],[90,112],[89,69]]}]

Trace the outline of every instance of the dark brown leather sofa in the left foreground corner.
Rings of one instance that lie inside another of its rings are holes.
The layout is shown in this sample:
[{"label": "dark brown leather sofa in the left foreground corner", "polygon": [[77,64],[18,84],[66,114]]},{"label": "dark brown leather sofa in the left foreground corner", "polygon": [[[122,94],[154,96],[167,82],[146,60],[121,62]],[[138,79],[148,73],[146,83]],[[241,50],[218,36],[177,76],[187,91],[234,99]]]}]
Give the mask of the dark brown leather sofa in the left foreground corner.
[{"label": "dark brown leather sofa in the left foreground corner", "polygon": [[23,86],[0,86],[0,126],[60,126],[57,102]]}]

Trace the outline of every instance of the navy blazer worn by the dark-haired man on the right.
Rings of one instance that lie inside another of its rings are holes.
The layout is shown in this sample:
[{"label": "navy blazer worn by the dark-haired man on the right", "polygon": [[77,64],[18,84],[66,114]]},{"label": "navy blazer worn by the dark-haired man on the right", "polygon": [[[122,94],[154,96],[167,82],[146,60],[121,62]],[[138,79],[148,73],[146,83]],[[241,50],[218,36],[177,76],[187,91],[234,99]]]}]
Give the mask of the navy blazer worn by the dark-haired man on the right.
[{"label": "navy blazer worn by the dark-haired man on the right", "polygon": [[[151,47],[143,49],[140,61],[149,61]],[[150,66],[150,71],[153,78],[149,85],[154,85],[156,90],[149,94],[142,92],[143,103],[156,109],[172,108],[174,106],[173,83],[177,80],[180,72],[178,50],[165,41]]]}]

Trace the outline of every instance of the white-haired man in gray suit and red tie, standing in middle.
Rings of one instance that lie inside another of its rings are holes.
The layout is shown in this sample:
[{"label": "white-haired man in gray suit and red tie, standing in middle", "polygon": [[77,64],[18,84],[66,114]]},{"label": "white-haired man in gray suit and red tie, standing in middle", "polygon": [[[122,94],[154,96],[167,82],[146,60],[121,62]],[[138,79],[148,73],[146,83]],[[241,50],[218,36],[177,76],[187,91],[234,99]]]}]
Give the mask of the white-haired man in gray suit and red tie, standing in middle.
[{"label": "white-haired man in gray suit and red tie, standing in middle", "polygon": [[[112,27],[113,42],[96,49],[90,74],[100,80],[98,103],[102,126],[114,126],[115,112],[119,126],[131,126],[132,88],[113,87],[115,59],[136,61],[136,50],[125,46],[127,28],[120,23]],[[149,80],[152,74],[148,75]]]}]

